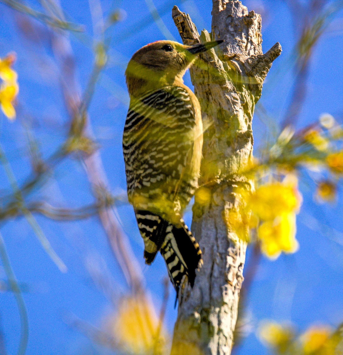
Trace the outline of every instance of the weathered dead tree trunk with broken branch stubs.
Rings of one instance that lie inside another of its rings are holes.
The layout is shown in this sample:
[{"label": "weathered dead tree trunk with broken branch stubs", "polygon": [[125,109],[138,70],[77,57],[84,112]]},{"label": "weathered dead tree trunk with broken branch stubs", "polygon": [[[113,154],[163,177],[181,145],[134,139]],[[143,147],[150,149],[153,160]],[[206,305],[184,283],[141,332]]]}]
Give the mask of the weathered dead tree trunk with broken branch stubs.
[{"label": "weathered dead tree trunk with broken branch stubs", "polygon": [[191,228],[203,266],[194,287],[185,285],[180,293],[172,355],[231,353],[246,241],[235,234],[229,211],[239,211],[235,187],[254,188],[242,174],[252,158],[252,115],[263,80],[281,53],[277,43],[263,55],[261,16],[248,13],[240,1],[213,0],[212,16],[211,35],[204,30],[199,36],[189,15],[173,8],[184,44],[225,43],[202,54],[191,68],[205,129]]}]

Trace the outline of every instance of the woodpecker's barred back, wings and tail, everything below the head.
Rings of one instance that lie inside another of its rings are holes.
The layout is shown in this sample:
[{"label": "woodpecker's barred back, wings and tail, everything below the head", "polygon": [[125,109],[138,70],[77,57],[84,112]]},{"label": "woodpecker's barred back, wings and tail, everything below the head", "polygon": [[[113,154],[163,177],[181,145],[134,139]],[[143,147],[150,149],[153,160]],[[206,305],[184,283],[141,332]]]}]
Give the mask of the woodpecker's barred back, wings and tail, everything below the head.
[{"label": "woodpecker's barred back, wings and tail, everything below the head", "polygon": [[127,193],[146,262],[161,250],[177,291],[184,275],[194,282],[201,259],[181,219],[200,169],[202,128],[196,114],[185,88],[165,87],[131,99],[123,135]]}]

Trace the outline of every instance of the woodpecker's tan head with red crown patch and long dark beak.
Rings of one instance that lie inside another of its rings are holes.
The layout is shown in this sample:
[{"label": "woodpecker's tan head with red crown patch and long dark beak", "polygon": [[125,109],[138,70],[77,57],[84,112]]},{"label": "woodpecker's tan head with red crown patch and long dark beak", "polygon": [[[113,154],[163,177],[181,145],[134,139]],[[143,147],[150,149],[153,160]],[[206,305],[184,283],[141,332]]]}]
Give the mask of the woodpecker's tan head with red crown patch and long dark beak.
[{"label": "woodpecker's tan head with red crown patch and long dark beak", "polygon": [[130,95],[137,97],[151,89],[182,83],[182,77],[198,54],[222,42],[218,40],[190,46],[163,40],[145,45],[132,56],[125,71]]}]

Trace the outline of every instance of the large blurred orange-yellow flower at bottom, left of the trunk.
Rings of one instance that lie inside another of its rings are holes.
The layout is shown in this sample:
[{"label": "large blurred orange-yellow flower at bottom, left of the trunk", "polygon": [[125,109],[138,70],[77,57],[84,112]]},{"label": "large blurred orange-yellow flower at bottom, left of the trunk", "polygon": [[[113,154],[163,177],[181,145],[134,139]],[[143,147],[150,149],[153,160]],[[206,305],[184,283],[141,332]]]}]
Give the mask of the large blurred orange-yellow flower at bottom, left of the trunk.
[{"label": "large blurred orange-yellow flower at bottom, left of the trunk", "polygon": [[145,297],[129,296],[121,300],[112,331],[125,352],[152,354],[156,346],[164,343],[163,332],[157,334],[158,329],[155,310]]}]

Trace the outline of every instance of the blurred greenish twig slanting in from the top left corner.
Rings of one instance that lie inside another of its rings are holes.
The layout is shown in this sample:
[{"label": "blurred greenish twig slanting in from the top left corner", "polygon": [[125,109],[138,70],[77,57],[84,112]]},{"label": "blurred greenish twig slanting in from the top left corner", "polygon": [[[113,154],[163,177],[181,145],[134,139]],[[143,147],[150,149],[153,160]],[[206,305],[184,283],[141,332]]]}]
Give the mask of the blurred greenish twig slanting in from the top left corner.
[{"label": "blurred greenish twig slanting in from the top left corner", "polygon": [[76,32],[84,31],[83,27],[80,26],[79,24],[61,21],[58,18],[47,16],[42,12],[38,12],[36,10],[31,9],[31,7],[21,4],[18,1],[15,0],[0,0],[0,1],[5,5],[10,6],[12,9],[20,11],[26,15],[32,16],[36,18],[36,20],[43,22],[51,27],[56,27],[56,28],[61,28],[68,31],[76,31]]}]

